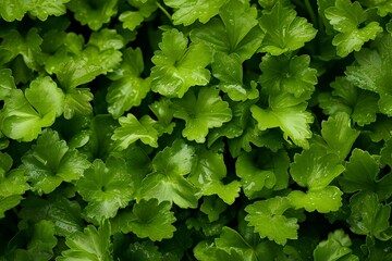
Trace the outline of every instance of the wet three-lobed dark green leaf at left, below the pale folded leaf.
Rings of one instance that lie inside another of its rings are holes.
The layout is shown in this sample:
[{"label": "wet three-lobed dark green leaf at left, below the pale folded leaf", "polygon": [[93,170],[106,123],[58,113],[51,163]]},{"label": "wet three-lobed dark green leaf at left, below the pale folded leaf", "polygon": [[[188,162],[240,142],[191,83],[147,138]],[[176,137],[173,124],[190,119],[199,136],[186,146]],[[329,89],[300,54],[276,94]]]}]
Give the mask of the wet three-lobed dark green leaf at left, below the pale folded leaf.
[{"label": "wet three-lobed dark green leaf at left, below the pale folded leaf", "polygon": [[78,179],[89,166],[86,158],[70,149],[59,134],[45,129],[36,145],[22,158],[22,167],[39,195],[53,191],[62,182]]}]

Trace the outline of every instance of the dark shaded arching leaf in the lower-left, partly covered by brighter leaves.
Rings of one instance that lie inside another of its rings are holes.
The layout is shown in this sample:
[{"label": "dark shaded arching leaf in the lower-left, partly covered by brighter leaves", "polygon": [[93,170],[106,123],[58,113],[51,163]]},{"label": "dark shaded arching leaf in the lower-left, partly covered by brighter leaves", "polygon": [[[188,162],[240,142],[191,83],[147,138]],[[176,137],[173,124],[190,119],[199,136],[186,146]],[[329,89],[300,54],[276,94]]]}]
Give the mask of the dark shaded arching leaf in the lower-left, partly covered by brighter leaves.
[{"label": "dark shaded arching leaf in the lower-left, partly covered by brighter leaves", "polygon": [[78,202],[59,194],[50,194],[47,199],[27,197],[21,206],[19,212],[21,221],[17,224],[21,228],[47,220],[54,224],[56,235],[69,237],[84,227]]}]

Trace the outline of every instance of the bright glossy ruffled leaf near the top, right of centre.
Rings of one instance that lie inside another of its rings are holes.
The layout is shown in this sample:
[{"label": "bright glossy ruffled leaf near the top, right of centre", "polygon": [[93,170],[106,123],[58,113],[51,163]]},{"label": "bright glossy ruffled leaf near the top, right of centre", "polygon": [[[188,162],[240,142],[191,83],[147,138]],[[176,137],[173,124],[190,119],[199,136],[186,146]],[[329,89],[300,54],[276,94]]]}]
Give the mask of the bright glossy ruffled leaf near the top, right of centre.
[{"label": "bright glossy ruffled leaf near the top, right of centre", "polygon": [[266,35],[260,51],[272,55],[297,50],[317,34],[306,18],[298,17],[294,9],[280,2],[271,11],[264,11],[259,23]]}]

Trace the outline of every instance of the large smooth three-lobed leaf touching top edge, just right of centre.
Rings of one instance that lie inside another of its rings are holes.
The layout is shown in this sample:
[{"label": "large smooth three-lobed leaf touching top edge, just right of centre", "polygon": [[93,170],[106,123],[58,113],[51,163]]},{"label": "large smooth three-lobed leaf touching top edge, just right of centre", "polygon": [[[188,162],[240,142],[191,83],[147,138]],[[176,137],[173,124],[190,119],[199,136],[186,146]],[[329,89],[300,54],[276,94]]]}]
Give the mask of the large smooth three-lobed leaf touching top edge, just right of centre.
[{"label": "large smooth three-lobed leaf touching top edge, just right of centre", "polygon": [[257,10],[248,1],[229,0],[220,9],[219,17],[191,32],[192,41],[203,41],[213,51],[228,55],[236,53],[244,62],[259,48],[264,34],[258,26]]}]

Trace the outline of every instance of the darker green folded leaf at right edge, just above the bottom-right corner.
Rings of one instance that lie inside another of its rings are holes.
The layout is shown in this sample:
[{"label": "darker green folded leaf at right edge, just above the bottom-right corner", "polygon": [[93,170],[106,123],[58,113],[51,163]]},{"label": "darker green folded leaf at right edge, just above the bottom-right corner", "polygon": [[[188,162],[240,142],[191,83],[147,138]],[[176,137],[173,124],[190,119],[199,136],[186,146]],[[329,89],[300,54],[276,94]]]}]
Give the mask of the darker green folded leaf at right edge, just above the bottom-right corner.
[{"label": "darker green folded leaf at right edge, just above the bottom-right corner", "polygon": [[359,192],[350,200],[351,229],[358,235],[369,235],[387,241],[391,239],[389,219],[391,206],[379,203],[377,194]]}]

